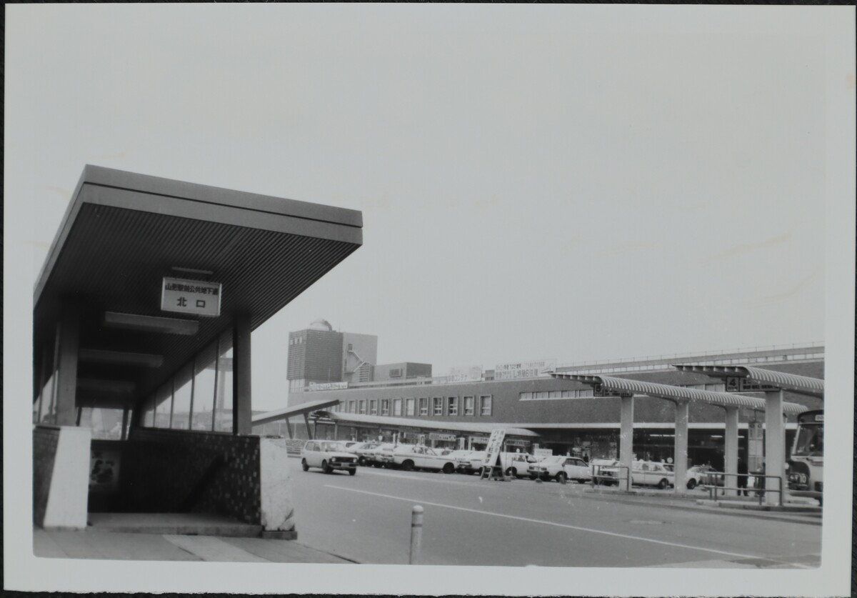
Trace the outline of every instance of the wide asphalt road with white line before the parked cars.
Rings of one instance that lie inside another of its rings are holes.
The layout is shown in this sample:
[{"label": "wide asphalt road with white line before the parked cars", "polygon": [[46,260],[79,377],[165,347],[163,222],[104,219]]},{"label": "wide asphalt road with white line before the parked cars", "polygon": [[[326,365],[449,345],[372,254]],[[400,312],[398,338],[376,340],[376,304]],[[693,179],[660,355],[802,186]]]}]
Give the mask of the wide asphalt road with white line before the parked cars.
[{"label": "wide asphalt road with white line before the parked cars", "polygon": [[818,525],[698,511],[666,496],[374,468],[325,475],[290,464],[299,541],[361,563],[407,564],[413,505],[425,510],[423,565],[806,568],[821,551]]}]

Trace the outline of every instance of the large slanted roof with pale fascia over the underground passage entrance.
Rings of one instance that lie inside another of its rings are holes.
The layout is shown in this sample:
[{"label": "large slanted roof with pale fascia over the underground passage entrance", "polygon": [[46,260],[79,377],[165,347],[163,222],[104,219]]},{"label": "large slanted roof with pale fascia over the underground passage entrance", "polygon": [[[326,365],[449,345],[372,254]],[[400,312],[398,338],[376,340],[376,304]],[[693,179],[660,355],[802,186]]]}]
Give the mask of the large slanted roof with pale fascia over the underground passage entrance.
[{"label": "large slanted roof with pale fascia over the underground passage entrance", "polygon": [[[87,165],[35,287],[35,372],[61,306],[74,304],[88,385],[79,404],[134,404],[234,314],[249,314],[251,329],[276,314],[360,247],[362,226],[354,210]],[[222,284],[221,315],[162,312],[165,277]],[[153,325],[165,316],[168,332]]]}]

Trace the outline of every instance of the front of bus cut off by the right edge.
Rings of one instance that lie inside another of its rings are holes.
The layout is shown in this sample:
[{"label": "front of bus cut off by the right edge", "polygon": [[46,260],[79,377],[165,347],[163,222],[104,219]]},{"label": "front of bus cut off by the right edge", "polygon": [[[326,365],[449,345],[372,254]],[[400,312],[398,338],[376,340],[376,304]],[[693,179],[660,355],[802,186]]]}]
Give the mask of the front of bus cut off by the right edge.
[{"label": "front of bus cut off by the right edge", "polygon": [[798,416],[792,456],[788,459],[788,493],[818,499],[824,486],[824,410]]}]

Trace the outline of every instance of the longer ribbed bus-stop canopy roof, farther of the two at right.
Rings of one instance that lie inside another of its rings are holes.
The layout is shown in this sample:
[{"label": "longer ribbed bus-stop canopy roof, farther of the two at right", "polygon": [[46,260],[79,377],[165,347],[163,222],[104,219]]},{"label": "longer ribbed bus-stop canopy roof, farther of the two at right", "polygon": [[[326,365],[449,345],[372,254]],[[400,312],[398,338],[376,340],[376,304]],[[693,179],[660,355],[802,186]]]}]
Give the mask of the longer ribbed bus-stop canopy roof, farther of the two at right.
[{"label": "longer ribbed bus-stop canopy roof, farther of the two at right", "polygon": [[[764,410],[764,398],[747,397],[728,392],[699,391],[682,386],[614,378],[613,376],[591,376],[587,374],[563,374],[555,372],[552,372],[550,375],[562,380],[574,380],[592,386],[600,385],[606,390],[618,393],[643,394],[650,397],[668,398],[674,401],[690,401],[693,403],[720,405],[722,407],[743,407],[746,409]],[[797,414],[806,411],[806,407],[794,403],[783,403],[782,410],[788,414]]]}]

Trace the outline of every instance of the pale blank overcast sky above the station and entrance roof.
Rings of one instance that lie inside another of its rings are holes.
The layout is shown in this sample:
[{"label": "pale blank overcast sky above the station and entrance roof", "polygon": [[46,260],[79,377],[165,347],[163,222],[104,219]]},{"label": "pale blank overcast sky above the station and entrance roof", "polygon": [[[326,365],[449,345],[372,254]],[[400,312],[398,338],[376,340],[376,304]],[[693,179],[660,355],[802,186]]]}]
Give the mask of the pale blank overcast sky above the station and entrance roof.
[{"label": "pale blank overcast sky above the station and entrance roof", "polygon": [[16,7],[29,288],[98,164],[363,212],[255,332],[255,409],[318,318],[435,375],[824,342],[824,38],[772,15]]}]

